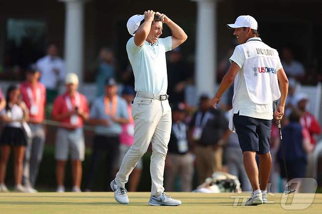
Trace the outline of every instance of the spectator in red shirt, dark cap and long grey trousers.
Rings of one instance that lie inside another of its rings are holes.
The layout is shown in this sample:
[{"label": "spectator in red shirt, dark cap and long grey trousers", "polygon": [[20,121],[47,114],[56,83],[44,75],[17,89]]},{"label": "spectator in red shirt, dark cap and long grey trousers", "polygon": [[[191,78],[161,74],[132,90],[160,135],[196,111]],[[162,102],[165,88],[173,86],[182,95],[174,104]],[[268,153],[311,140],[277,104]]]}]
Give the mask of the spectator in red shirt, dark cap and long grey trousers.
[{"label": "spectator in red shirt, dark cap and long grey trousers", "polygon": [[29,127],[32,135],[28,139],[25,151],[23,181],[26,189],[37,192],[34,188],[39,165],[43,157],[45,145],[45,119],[46,88],[39,83],[40,71],[31,67],[27,71],[27,79],[20,85],[23,102],[29,110]]}]

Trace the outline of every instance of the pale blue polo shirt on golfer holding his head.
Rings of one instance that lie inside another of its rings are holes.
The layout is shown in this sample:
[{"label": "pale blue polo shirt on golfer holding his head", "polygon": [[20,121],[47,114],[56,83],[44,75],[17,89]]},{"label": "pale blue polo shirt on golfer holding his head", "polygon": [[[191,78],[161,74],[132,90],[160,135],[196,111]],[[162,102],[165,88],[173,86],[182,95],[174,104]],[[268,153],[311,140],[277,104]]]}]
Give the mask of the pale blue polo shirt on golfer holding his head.
[{"label": "pale blue polo shirt on golfer holding his head", "polygon": [[134,37],[126,44],[126,51],[132,65],[135,91],[149,94],[166,94],[168,77],[165,52],[172,48],[172,37],[159,38],[151,45],[147,41],[140,47]]}]

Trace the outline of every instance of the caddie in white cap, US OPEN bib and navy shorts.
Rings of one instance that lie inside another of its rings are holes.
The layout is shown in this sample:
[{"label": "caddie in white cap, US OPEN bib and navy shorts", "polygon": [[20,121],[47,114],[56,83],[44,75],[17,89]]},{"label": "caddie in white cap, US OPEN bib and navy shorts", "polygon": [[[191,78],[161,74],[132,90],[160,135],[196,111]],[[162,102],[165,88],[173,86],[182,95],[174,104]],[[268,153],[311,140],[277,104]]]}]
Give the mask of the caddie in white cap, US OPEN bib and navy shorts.
[{"label": "caddie in white cap, US OPEN bib and navy shorts", "polygon": [[[276,120],[280,120],[284,114],[288,80],[276,49],[258,37],[258,25],[253,17],[239,16],[234,24],[227,26],[234,29],[233,35],[239,45],[229,59],[230,68],[212,104],[216,108],[222,94],[234,81],[230,129],[235,128],[238,135],[245,170],[253,188],[246,205],[257,205],[267,202],[266,188],[272,165],[270,135],[273,101],[280,98],[274,112]],[[259,181],[256,153],[259,155]]]}]

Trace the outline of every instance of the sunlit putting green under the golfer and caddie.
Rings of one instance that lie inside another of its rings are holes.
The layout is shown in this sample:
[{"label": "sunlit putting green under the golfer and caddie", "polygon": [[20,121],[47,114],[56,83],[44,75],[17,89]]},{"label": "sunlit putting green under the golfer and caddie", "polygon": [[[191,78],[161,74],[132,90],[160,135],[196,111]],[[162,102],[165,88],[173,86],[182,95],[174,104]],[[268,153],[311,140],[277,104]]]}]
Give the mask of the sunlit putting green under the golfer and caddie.
[{"label": "sunlit putting green under the golfer and caddie", "polygon": [[178,207],[150,206],[148,205],[150,193],[129,193],[130,204],[128,205],[117,204],[114,193],[0,193],[0,213],[251,214],[256,212],[277,214],[308,212],[320,214],[322,210],[322,194],[282,195],[277,193],[268,197],[268,204],[247,207],[242,205],[242,201],[246,200],[249,193],[169,193],[169,195],[182,200],[183,204]]}]

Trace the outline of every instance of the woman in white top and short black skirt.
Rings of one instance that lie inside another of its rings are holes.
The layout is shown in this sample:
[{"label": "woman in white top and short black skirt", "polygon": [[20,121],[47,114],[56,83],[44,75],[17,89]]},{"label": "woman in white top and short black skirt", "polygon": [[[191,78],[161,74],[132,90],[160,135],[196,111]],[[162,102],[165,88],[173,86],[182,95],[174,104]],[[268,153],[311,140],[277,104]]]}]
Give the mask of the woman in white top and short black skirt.
[{"label": "woman in white top and short black skirt", "polygon": [[4,180],[11,147],[14,151],[14,191],[25,192],[22,186],[22,176],[27,137],[23,122],[27,121],[28,117],[28,109],[21,101],[19,88],[10,86],[7,90],[6,107],[0,113],[0,119],[5,123],[0,138],[0,192],[8,192]]}]

